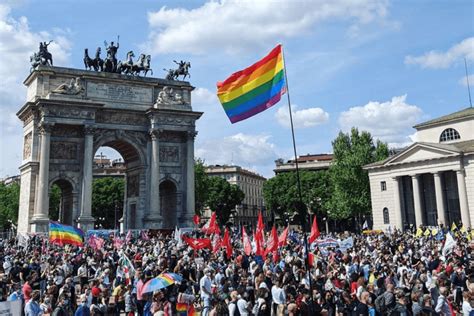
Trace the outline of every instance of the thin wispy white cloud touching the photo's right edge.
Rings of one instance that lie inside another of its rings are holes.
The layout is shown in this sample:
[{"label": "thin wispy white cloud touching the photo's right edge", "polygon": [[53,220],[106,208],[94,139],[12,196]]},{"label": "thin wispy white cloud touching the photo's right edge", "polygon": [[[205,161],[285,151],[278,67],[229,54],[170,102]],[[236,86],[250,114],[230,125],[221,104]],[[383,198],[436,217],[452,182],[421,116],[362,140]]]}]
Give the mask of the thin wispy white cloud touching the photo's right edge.
[{"label": "thin wispy white cloud touching the photo's right edge", "polygon": [[452,46],[446,52],[430,51],[422,56],[406,56],[405,64],[420,65],[422,68],[448,68],[462,58],[474,61],[474,37],[469,37]]}]

